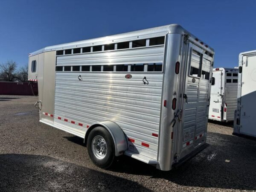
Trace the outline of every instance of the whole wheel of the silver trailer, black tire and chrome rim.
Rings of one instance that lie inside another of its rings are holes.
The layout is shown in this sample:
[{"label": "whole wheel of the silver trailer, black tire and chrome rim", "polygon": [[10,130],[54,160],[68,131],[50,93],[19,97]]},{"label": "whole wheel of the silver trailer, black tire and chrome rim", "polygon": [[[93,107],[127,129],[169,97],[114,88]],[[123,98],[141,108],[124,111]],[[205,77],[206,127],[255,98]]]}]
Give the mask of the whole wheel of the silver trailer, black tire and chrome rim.
[{"label": "whole wheel of the silver trailer, black tire and chrome rim", "polygon": [[112,165],[115,159],[115,145],[107,129],[93,128],[88,135],[87,151],[96,166],[107,169]]}]

